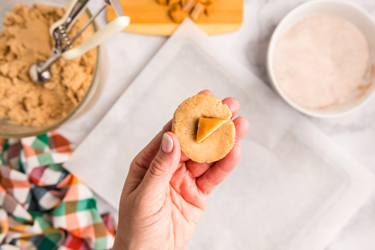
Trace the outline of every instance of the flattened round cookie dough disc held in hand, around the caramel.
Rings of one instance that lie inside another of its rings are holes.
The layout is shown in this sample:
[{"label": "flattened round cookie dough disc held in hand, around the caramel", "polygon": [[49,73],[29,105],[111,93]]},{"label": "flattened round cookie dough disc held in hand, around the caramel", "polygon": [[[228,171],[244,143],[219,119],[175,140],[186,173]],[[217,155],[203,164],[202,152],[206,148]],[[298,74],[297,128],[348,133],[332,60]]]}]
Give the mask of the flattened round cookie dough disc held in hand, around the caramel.
[{"label": "flattened round cookie dough disc held in hand, around the caramel", "polygon": [[[227,119],[202,142],[196,141],[200,117]],[[181,103],[173,115],[172,132],[181,144],[181,151],[195,162],[216,162],[233,148],[236,128],[232,112],[217,97],[197,94]]]}]

